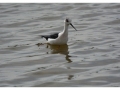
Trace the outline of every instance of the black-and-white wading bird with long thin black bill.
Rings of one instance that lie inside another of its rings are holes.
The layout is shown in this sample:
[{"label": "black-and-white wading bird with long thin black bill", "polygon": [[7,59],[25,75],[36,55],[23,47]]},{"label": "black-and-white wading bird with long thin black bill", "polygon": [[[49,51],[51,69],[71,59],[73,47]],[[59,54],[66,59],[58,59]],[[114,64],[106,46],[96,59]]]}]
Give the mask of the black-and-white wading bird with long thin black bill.
[{"label": "black-and-white wading bird with long thin black bill", "polygon": [[51,45],[64,45],[68,42],[68,27],[71,25],[76,31],[77,29],[71,23],[71,19],[65,18],[64,29],[60,33],[53,33],[50,35],[41,35],[41,38],[45,38],[48,44]]}]

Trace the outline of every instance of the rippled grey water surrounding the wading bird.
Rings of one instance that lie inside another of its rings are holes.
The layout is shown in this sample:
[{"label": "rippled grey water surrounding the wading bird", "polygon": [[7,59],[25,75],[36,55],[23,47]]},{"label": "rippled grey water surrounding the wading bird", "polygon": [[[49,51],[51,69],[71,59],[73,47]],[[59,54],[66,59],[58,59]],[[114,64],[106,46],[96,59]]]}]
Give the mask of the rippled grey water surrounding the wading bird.
[{"label": "rippled grey water surrounding the wading bird", "polygon": [[[65,17],[68,44],[44,44]],[[0,86],[120,86],[120,4],[1,3]]]}]

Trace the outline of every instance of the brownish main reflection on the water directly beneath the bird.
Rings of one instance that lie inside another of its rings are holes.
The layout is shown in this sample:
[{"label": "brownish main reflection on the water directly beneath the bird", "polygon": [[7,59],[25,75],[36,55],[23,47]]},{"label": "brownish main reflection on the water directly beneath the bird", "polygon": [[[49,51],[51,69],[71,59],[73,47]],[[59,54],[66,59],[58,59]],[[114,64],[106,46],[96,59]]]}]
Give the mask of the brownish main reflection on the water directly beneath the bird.
[{"label": "brownish main reflection on the water directly beneath the bird", "polygon": [[50,45],[50,44],[47,44],[47,47],[46,48],[49,48],[51,49],[51,53],[52,54],[57,54],[57,53],[60,53],[60,54],[63,54],[65,55],[65,59],[70,63],[72,62],[70,57],[69,56],[69,51],[68,51],[68,45],[65,44],[65,45]]}]

